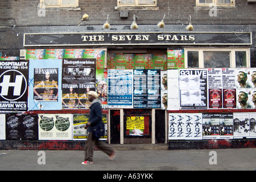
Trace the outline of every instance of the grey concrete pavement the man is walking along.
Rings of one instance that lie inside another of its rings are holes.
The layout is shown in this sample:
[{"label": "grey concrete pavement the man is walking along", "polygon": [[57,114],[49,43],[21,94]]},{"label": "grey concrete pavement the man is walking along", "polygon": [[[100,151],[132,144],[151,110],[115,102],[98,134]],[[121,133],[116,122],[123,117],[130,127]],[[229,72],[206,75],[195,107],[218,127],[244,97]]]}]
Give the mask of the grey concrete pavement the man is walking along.
[{"label": "grey concrete pavement the man is walking along", "polygon": [[[217,154],[217,164],[210,164]],[[43,154],[43,155],[42,155]],[[44,155],[45,154],[45,155]],[[43,163],[45,156],[45,164]],[[210,159],[211,158],[211,159]],[[119,150],[111,161],[95,151],[94,164],[81,165],[83,151],[0,150],[0,171],[234,171],[256,170],[256,148],[217,150]]]}]

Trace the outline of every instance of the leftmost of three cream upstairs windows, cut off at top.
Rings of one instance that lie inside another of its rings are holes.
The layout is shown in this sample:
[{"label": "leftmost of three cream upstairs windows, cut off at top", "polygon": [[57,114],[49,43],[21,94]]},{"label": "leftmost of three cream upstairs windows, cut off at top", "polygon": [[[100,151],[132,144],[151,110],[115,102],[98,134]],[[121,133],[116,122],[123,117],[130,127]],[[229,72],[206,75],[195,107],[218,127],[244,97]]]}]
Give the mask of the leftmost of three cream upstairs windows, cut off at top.
[{"label": "leftmost of three cream upstairs windows, cut off at top", "polygon": [[78,0],[41,0],[45,7],[78,7]]}]

